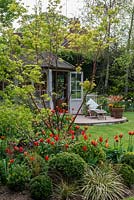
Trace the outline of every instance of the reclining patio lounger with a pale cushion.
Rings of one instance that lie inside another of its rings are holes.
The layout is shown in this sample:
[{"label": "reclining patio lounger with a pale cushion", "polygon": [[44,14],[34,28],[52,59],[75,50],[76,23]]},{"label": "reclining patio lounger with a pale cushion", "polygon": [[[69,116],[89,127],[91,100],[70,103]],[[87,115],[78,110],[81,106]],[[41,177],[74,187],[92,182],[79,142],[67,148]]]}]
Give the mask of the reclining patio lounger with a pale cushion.
[{"label": "reclining patio lounger with a pale cushion", "polygon": [[[102,109],[101,105],[98,105],[93,99],[89,99],[86,103],[88,106],[88,114],[91,117],[97,117],[98,119],[106,119],[107,112]],[[100,107],[100,109],[99,109]]]}]

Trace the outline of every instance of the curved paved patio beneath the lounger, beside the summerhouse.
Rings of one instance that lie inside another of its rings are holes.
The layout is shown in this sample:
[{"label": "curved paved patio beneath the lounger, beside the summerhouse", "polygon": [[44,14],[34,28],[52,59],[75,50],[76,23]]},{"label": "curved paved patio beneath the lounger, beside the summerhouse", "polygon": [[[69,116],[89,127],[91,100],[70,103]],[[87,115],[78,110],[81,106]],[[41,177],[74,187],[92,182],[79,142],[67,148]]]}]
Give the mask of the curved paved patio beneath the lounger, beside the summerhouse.
[{"label": "curved paved patio beneath the lounger, beside the summerhouse", "polygon": [[75,119],[75,123],[78,125],[101,125],[101,124],[115,124],[127,122],[127,118],[123,117],[120,119],[115,119],[114,117],[106,116],[100,117],[90,117],[84,115],[78,115]]}]

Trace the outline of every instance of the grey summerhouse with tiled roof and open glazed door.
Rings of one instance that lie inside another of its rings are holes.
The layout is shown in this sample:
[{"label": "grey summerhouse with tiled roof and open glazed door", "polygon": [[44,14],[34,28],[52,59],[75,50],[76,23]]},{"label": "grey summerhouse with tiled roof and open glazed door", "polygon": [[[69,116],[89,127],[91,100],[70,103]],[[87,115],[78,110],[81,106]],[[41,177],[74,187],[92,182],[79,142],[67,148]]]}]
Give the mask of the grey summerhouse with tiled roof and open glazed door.
[{"label": "grey summerhouse with tiled roof and open glazed door", "polygon": [[83,73],[77,73],[75,67],[54,56],[42,54],[42,84],[37,86],[37,93],[47,93],[51,100],[48,106],[54,108],[56,93],[57,104],[65,102],[70,113],[76,113],[83,100],[83,90],[80,82],[83,81]]}]

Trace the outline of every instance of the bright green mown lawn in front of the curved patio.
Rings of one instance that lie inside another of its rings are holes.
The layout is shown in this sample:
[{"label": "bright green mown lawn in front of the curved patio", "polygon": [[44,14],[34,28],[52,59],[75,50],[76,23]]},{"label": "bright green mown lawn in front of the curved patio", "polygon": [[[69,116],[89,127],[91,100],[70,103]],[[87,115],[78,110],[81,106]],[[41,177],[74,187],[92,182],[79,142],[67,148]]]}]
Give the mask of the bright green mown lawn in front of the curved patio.
[{"label": "bright green mown lawn in front of the curved patio", "polygon": [[88,128],[88,133],[91,134],[92,139],[98,139],[102,136],[104,139],[108,138],[109,145],[114,145],[114,136],[123,133],[123,146],[127,148],[129,135],[128,131],[134,130],[134,112],[125,112],[128,122],[110,125],[95,125]]}]

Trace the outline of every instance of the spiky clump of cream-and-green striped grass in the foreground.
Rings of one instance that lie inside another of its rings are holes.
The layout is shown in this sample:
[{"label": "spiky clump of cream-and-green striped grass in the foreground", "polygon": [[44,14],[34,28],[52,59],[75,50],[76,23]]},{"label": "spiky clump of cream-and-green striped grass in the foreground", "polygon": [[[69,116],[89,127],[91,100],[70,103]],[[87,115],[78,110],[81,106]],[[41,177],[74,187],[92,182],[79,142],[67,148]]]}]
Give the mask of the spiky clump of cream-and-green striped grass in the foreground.
[{"label": "spiky clump of cream-and-green striped grass in the foreground", "polygon": [[86,200],[119,200],[128,193],[121,182],[121,177],[114,170],[105,167],[88,169],[83,184],[82,191]]}]

